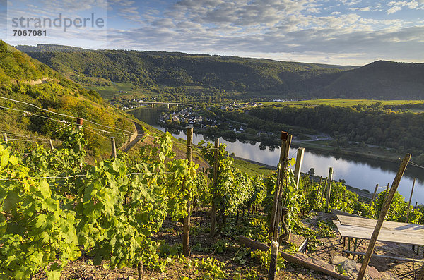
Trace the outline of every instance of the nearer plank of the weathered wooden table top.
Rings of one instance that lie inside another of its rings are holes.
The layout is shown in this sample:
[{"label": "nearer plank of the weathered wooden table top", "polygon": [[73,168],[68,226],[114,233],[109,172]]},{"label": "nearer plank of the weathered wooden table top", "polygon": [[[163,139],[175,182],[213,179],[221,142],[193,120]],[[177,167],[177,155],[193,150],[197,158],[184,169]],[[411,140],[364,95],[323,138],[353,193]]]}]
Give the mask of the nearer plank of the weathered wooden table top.
[{"label": "nearer plank of the weathered wooden table top", "polygon": [[[340,224],[339,221],[333,221],[337,226],[338,232],[343,237],[371,239],[374,229],[365,226],[348,226]],[[394,231],[391,229],[382,229],[378,236],[378,241],[388,241],[394,243],[404,243],[409,245],[424,245],[424,234],[413,231]]]}]

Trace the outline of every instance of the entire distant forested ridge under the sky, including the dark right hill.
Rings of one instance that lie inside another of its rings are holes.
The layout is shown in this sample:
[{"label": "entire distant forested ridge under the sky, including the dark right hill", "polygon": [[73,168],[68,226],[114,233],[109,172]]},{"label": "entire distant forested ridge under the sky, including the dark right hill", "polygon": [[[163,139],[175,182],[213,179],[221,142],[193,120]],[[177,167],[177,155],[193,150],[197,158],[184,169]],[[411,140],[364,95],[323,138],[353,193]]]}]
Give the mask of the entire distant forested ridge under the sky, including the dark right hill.
[{"label": "entire distant forested ridge under the sky, including the dark right hill", "polygon": [[83,85],[203,86],[258,97],[423,99],[424,63],[363,67],[165,51],[16,46]]}]

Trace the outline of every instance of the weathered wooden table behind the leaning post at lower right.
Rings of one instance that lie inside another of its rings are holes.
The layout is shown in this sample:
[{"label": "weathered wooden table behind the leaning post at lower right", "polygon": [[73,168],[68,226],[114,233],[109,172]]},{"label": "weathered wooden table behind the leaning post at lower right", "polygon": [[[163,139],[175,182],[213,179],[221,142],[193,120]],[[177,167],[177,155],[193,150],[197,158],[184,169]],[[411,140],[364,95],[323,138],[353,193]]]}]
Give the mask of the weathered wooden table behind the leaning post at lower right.
[{"label": "weathered wooden table behind the leaning post at lower right", "polygon": [[[337,218],[338,221],[333,222],[343,238],[343,245],[346,245],[346,238],[348,238],[348,250],[351,250],[352,241],[353,252],[356,251],[363,240],[371,239],[375,224],[377,224],[377,220],[363,217],[350,217],[338,214]],[[377,241],[404,243],[413,245],[413,249],[415,246],[419,248],[419,246],[424,246],[424,226],[420,224],[384,221]]]}]

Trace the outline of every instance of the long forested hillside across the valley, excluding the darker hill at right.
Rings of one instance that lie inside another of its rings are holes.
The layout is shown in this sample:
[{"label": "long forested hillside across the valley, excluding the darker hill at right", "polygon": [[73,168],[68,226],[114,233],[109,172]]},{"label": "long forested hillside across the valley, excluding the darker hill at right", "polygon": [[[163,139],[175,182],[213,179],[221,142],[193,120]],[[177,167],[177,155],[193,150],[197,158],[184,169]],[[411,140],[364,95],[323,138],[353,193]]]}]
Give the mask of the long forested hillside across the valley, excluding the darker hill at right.
[{"label": "long forested hillside across the valley, excluding the darker hill at right", "polygon": [[82,51],[55,45],[18,46],[82,85],[131,82],[146,88],[201,86],[227,92],[307,96],[352,66],[160,51]]}]

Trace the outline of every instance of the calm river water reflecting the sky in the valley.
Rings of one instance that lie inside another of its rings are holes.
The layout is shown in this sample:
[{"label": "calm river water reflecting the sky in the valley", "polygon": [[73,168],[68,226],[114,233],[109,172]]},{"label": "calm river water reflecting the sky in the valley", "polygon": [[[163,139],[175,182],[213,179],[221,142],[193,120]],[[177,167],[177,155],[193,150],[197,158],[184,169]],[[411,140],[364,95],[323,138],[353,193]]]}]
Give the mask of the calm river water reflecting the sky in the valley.
[{"label": "calm river water reflecting the sky in the valley", "polygon": [[[131,111],[131,114],[139,118],[155,128],[165,131],[165,128],[158,126],[156,120],[162,114],[164,109],[138,109]],[[179,131],[171,133],[175,138],[186,138],[185,131]],[[212,141],[210,137],[201,134],[194,133],[193,142],[197,144],[201,140]],[[234,153],[237,157],[244,159],[250,159],[255,162],[261,162],[271,166],[278,164],[280,157],[280,150],[270,150],[266,147],[265,150],[261,150],[259,143],[251,142],[240,142],[239,140],[232,140],[231,142],[220,138],[220,143],[227,145],[227,150],[230,153]],[[263,147],[262,147],[263,148]],[[296,149],[291,148],[290,157],[296,157]],[[404,154],[399,154],[399,157],[403,158]],[[413,157],[411,159],[413,161]],[[351,185],[355,188],[369,190],[370,193],[374,192],[375,185],[379,184],[378,192],[386,188],[387,183],[392,183],[396,171],[399,169],[398,163],[381,162],[372,159],[363,159],[360,157],[338,157],[333,154],[327,154],[322,152],[314,152],[305,149],[305,155],[303,158],[302,172],[307,172],[310,168],[315,170],[315,174],[318,176],[326,177],[329,173],[329,167],[333,167],[334,175],[333,179],[338,181],[339,179],[346,180],[347,185]],[[398,192],[404,196],[405,200],[408,201],[411,195],[411,187],[413,184],[413,178],[417,178],[413,197],[412,205],[424,203],[424,170],[411,165],[405,171],[404,177],[399,184]]]}]

